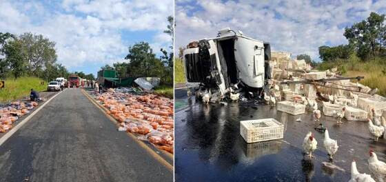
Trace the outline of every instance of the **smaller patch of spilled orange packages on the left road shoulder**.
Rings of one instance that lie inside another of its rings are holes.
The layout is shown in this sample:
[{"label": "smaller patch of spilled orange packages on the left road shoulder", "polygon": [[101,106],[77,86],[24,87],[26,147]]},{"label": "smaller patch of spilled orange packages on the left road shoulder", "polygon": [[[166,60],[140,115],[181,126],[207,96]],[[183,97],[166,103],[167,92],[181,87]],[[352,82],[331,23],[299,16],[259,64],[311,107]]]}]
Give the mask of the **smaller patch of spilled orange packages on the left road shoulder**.
[{"label": "smaller patch of spilled orange packages on the left road shoulder", "polygon": [[13,123],[19,117],[28,114],[30,110],[39,105],[34,101],[14,101],[0,106],[0,132],[7,132],[12,129]]}]

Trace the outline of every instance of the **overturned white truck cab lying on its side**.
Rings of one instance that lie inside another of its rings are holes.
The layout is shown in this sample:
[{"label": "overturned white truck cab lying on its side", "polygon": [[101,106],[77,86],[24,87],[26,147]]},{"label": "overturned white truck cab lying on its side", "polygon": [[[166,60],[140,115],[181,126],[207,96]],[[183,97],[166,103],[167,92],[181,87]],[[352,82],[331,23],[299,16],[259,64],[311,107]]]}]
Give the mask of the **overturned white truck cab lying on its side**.
[{"label": "overturned white truck cab lying on its side", "polygon": [[199,85],[196,97],[211,94],[218,101],[228,92],[261,92],[270,79],[270,43],[243,36],[230,28],[219,30],[216,38],[187,45],[183,52],[187,84]]}]

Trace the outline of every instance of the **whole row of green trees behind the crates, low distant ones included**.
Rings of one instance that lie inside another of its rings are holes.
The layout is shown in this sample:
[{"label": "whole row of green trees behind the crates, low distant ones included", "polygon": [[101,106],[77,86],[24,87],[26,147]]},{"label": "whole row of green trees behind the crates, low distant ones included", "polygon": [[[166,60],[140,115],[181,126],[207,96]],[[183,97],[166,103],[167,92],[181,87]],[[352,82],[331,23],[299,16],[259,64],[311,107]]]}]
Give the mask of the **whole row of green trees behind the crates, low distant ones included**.
[{"label": "whole row of green trees behind the crates, low distant ones included", "polygon": [[318,48],[322,61],[336,61],[356,56],[362,61],[386,57],[385,14],[370,13],[367,19],[346,27],[344,36],[349,42],[346,45]]}]

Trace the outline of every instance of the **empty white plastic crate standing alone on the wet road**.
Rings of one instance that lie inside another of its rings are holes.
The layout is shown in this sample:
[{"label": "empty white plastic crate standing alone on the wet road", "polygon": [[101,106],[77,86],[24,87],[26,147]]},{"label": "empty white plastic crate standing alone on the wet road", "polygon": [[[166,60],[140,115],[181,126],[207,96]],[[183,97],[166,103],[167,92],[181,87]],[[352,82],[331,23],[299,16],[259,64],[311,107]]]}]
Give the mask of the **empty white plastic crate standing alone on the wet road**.
[{"label": "empty white plastic crate standing alone on the wet road", "polygon": [[284,125],[273,118],[240,121],[240,134],[247,143],[283,139]]}]

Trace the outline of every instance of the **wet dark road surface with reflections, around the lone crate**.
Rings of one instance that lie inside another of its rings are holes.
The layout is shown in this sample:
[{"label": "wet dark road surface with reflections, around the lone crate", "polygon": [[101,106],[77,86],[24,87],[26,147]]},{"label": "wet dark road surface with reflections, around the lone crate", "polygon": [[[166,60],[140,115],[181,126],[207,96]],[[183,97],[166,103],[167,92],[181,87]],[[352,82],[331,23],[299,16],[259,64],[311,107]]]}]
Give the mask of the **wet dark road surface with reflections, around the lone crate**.
[{"label": "wet dark road surface with reflections, around the lone crate", "polygon": [[[187,101],[183,92],[176,90],[175,94],[179,97],[176,100],[188,103],[175,117],[176,181],[349,181],[353,159],[359,172],[369,174],[369,148],[386,161],[386,140],[372,141],[365,122],[345,120],[336,125],[336,119],[322,115],[321,122],[339,145],[332,161],[336,167],[330,168],[323,164],[330,164],[324,134],[314,130],[311,112],[293,116],[267,105],[258,105],[257,110],[239,103],[203,105],[194,99]],[[245,143],[239,134],[239,121],[263,118],[283,123],[284,139]],[[296,121],[298,118],[301,121]],[[318,141],[313,152],[316,159],[312,160],[302,154],[308,131]]]}]

